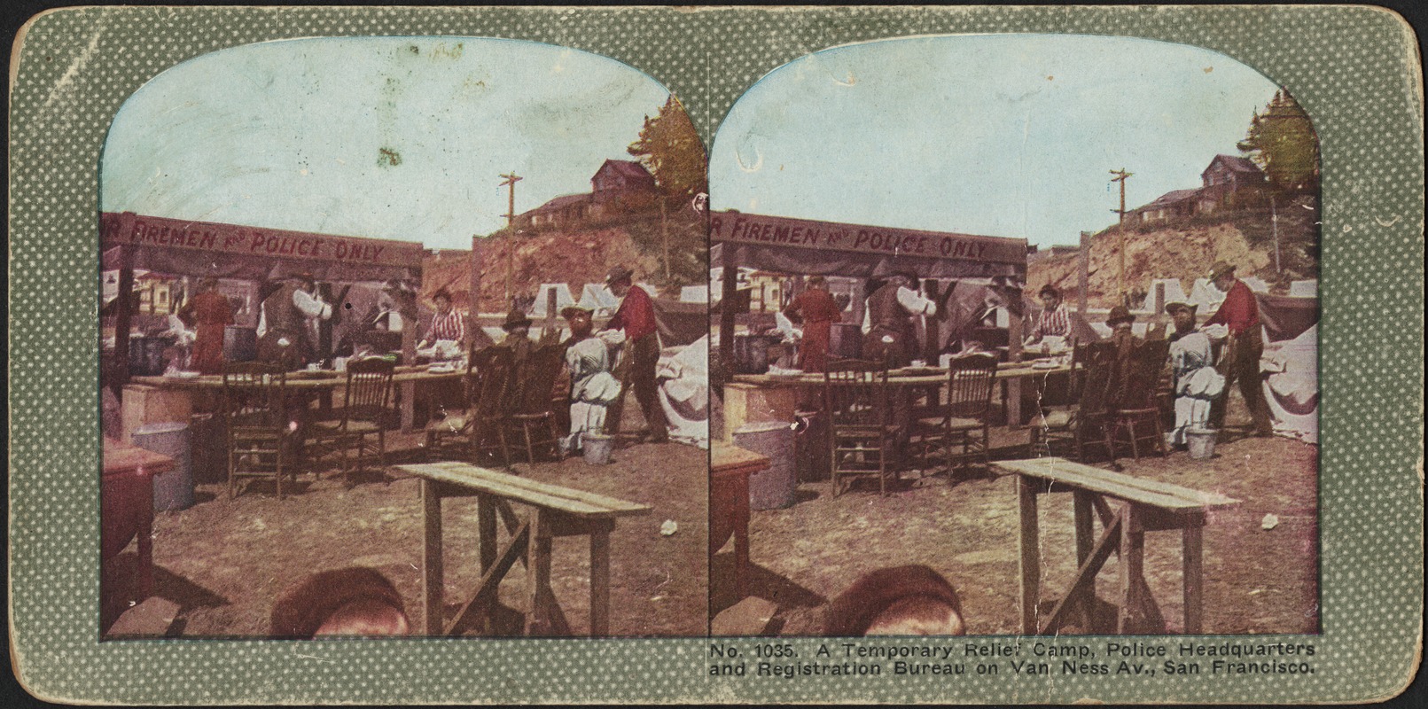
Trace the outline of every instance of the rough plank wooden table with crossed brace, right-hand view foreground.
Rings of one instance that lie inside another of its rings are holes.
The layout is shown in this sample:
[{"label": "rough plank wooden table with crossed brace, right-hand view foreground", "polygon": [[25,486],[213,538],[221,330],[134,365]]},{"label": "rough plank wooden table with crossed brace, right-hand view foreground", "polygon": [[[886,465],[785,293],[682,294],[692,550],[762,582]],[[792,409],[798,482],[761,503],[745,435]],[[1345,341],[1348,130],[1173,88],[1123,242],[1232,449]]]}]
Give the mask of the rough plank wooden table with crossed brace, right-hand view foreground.
[{"label": "rough plank wooden table with crossed brace, right-hand view foreground", "polygon": [[[1238,505],[1238,499],[1215,492],[1201,492],[1167,482],[1154,482],[1131,475],[1092,468],[1064,458],[1035,458],[1027,461],[995,461],[992,468],[1017,475],[1017,498],[1021,509],[1021,632],[1050,635],[1058,629],[1064,613],[1077,608],[1082,632],[1091,633],[1095,603],[1095,575],[1112,551],[1120,552],[1120,611],[1115,632],[1125,635],[1132,613],[1142,613],[1150,625],[1160,622],[1160,609],[1145,583],[1145,532],[1181,532],[1182,591],[1185,599],[1184,633],[1201,632],[1204,579],[1201,569],[1205,512]],[[1040,528],[1037,495],[1071,492],[1075,514],[1077,575],[1067,595],[1057,602],[1051,615],[1037,622],[1041,601]],[[1112,511],[1107,498],[1121,501]],[[1101,519],[1104,532],[1092,541],[1092,511]],[[1151,631],[1155,632],[1155,631]],[[1160,629],[1158,632],[1164,632]]]}]

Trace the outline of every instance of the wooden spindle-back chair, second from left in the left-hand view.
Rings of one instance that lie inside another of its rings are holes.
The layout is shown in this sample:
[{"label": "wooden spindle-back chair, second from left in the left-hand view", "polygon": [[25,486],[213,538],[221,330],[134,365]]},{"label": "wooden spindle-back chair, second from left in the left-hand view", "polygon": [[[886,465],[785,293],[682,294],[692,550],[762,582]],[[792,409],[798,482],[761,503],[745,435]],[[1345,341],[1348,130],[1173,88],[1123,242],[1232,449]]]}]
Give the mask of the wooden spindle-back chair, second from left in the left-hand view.
[{"label": "wooden spindle-back chair, second from left in the left-hand view", "polygon": [[[391,375],[396,364],[387,359],[360,359],[347,365],[347,387],[341,418],[317,421],[308,434],[311,449],[340,455],[343,474],[351,479],[354,468],[376,459],[386,469],[387,427],[393,417]],[[367,439],[376,437],[376,447]],[[356,456],[347,454],[356,452]]]}]

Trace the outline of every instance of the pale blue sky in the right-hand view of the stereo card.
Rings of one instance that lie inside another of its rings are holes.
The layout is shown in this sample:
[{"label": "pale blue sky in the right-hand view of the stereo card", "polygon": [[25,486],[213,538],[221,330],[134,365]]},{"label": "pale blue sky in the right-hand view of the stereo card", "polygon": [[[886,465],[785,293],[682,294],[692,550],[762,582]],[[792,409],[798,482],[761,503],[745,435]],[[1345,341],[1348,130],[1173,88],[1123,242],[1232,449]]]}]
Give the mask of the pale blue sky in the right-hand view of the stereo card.
[{"label": "pale blue sky in the right-hand view of the stereo card", "polygon": [[1238,155],[1274,83],[1224,54],[1091,36],[838,47],[750,88],[710,155],[713,208],[1075,244]]}]

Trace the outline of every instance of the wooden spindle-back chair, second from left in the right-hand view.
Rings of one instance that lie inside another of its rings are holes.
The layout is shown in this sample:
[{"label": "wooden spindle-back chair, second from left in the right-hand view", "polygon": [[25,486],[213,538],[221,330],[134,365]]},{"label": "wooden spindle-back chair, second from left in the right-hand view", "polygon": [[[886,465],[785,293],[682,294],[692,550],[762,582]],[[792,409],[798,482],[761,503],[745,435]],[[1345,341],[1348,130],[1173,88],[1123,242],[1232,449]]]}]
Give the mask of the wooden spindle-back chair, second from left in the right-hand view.
[{"label": "wooden spindle-back chair, second from left in the right-hand view", "polygon": [[[981,459],[987,465],[995,379],[997,358],[990,354],[952,359],[947,371],[947,404],[912,422],[910,447],[924,452],[942,451],[948,475],[970,459]],[[958,447],[961,452],[957,452]]]}]

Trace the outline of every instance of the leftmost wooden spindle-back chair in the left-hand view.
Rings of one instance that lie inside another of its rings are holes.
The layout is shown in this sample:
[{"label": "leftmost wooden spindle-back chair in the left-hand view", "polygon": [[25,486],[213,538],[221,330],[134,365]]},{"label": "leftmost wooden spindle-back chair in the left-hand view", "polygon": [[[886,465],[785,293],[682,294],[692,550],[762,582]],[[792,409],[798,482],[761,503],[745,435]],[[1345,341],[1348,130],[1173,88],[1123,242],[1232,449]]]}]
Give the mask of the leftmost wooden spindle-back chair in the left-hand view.
[{"label": "leftmost wooden spindle-back chair in the left-hand view", "polygon": [[243,478],[273,478],[283,499],[283,478],[296,482],[291,427],[287,417],[287,374],[266,362],[230,362],[223,368],[220,411],[228,449],[228,498]]}]

